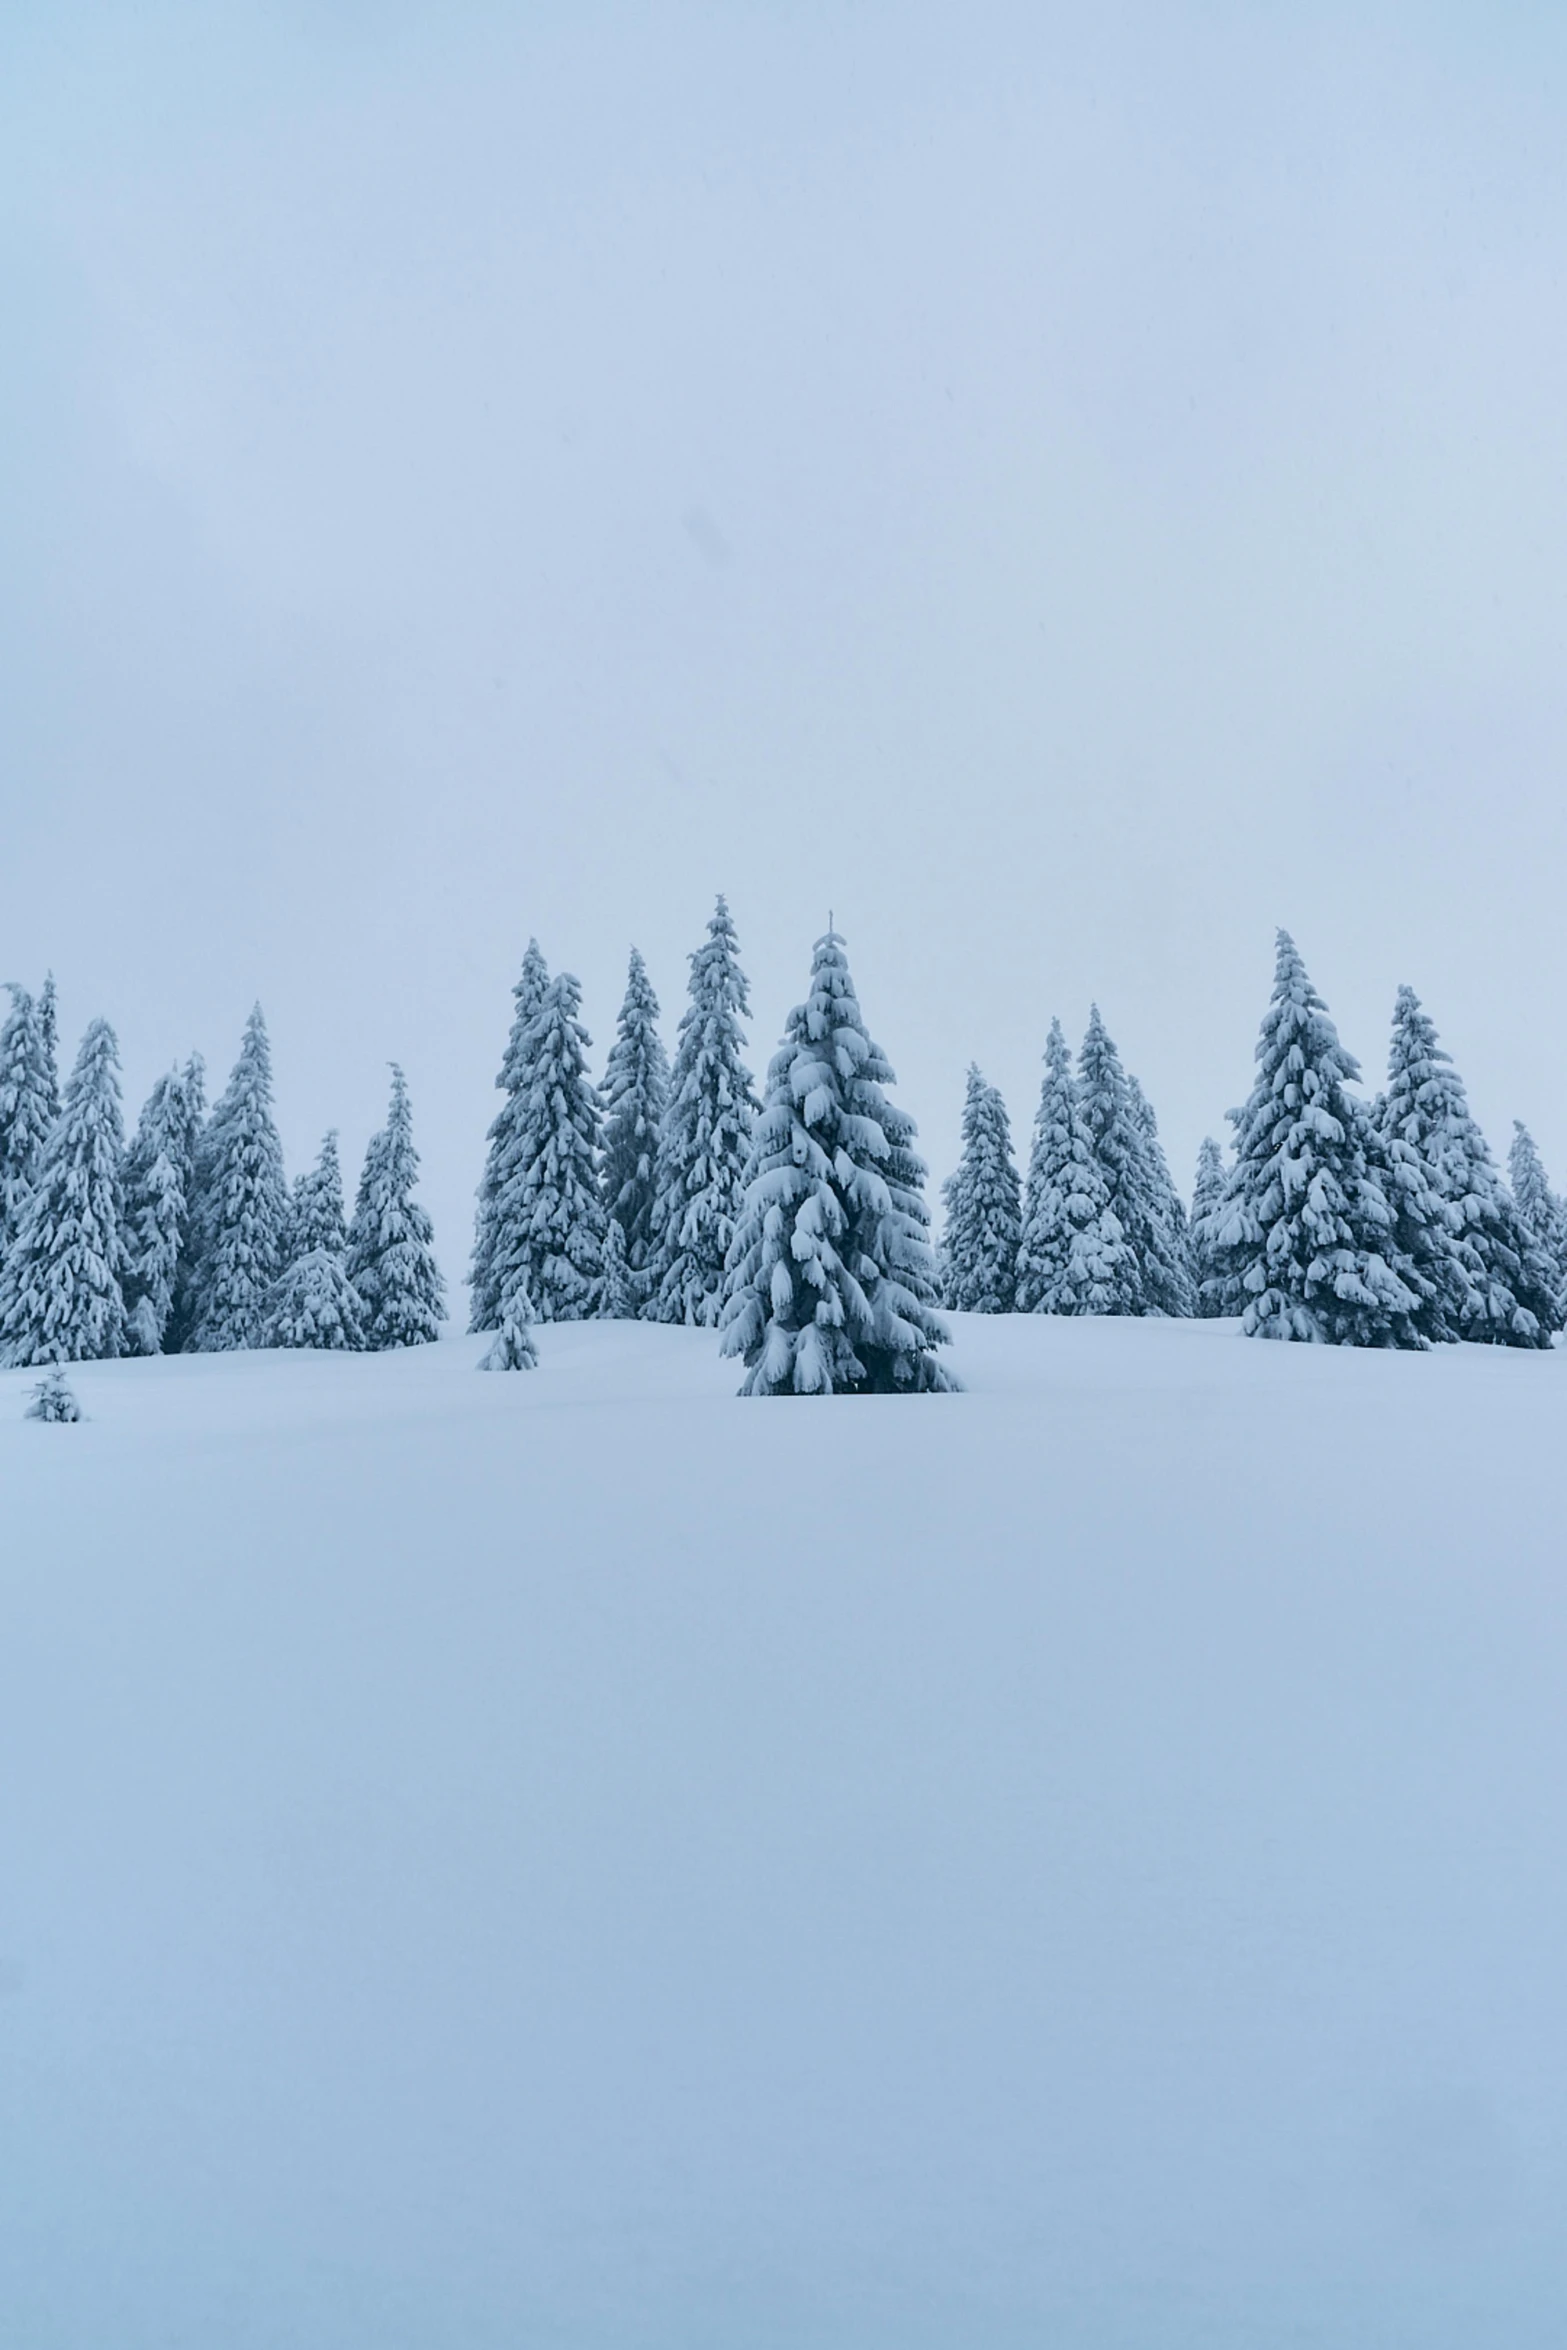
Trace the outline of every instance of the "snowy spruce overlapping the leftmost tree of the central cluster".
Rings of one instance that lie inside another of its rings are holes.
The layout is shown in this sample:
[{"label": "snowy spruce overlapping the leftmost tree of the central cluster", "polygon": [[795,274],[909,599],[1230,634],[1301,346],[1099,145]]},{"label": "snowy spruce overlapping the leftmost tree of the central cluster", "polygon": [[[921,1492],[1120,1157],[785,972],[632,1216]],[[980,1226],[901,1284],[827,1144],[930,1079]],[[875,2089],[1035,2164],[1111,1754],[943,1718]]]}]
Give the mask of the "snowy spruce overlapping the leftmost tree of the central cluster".
[{"label": "snowy spruce overlapping the leftmost tree of the central cluster", "polygon": [[587,1321],[599,1311],[604,1283],[601,1112],[580,1003],[583,989],[561,971],[533,1015],[515,1161],[496,1201],[500,1295],[522,1278],[538,1321]]}]

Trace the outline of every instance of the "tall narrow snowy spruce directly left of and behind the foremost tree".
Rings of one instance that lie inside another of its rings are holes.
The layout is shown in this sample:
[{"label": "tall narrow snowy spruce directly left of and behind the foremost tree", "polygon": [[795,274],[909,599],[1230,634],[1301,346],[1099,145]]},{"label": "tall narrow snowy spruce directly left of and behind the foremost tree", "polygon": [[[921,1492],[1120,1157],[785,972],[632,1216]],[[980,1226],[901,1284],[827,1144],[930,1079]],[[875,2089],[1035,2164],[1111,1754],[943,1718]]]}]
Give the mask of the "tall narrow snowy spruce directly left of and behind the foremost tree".
[{"label": "tall narrow snowy spruce directly left of and behind the foremost tree", "polygon": [[752,1074],[740,1060],[745,1018],[740,940],[719,898],[707,945],[691,956],[691,996],[658,1142],[651,1321],[712,1328],[724,1307],[728,1243],[756,1123]]}]

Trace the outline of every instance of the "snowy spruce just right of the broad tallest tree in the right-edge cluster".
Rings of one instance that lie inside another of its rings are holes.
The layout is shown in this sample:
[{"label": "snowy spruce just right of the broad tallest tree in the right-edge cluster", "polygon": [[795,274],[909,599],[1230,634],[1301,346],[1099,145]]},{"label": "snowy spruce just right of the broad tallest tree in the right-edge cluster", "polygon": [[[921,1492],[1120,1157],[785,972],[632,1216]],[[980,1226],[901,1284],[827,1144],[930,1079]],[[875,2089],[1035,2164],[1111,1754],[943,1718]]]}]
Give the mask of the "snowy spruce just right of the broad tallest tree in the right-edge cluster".
[{"label": "snowy spruce just right of the broad tallest tree in the right-edge cluster", "polygon": [[1555,1330],[1551,1264],[1508,1198],[1464,1079],[1412,987],[1398,989],[1388,1088],[1377,1109],[1384,1152],[1419,1163],[1442,1208],[1452,1250],[1433,1260],[1445,1335],[1494,1347],[1548,1347]]}]

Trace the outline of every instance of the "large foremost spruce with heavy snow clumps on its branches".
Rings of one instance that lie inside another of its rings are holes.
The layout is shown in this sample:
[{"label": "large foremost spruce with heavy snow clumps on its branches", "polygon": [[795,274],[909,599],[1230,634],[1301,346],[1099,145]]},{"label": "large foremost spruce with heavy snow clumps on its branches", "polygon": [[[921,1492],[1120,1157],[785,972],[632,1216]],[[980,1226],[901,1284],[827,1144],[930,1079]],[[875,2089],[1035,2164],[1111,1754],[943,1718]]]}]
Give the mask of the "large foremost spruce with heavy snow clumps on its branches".
[{"label": "large foremost spruce with heavy snow clumps on its branches", "polygon": [[935,1257],[914,1119],[895,1109],[843,940],[815,942],[811,994],[768,1067],[728,1253],[724,1354],[742,1396],[907,1396],[956,1386],[935,1349]]}]

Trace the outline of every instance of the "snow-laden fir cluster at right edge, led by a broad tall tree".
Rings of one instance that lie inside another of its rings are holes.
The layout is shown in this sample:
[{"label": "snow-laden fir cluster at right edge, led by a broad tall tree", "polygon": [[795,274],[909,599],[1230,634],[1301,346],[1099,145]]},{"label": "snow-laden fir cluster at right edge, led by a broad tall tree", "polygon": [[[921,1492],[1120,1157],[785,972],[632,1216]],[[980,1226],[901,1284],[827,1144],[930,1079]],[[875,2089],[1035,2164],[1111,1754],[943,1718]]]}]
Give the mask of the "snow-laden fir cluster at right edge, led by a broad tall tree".
[{"label": "snow-laden fir cluster at right edge, led by a broad tall tree", "polygon": [[1508,1191],[1412,987],[1393,1006],[1386,1090],[1365,1102],[1358,1076],[1280,931],[1257,1081],[1231,1114],[1236,1159],[1224,1175],[1205,1142],[1198,1166],[1201,1311],[1240,1314],[1250,1337],[1548,1347],[1567,1217],[1527,1128]]}]

